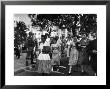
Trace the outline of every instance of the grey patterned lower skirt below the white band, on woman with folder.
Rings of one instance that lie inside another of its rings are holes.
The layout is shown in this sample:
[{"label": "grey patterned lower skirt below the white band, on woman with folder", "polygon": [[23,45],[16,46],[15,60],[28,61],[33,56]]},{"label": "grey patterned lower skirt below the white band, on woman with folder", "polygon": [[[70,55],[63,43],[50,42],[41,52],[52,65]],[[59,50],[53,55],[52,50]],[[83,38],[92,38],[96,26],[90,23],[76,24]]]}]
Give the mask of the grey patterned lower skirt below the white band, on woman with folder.
[{"label": "grey patterned lower skirt below the white band, on woman with folder", "polygon": [[38,60],[38,72],[39,73],[50,73],[51,72],[51,61],[50,60]]}]

